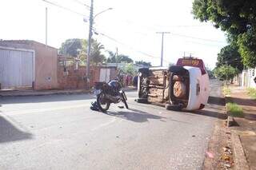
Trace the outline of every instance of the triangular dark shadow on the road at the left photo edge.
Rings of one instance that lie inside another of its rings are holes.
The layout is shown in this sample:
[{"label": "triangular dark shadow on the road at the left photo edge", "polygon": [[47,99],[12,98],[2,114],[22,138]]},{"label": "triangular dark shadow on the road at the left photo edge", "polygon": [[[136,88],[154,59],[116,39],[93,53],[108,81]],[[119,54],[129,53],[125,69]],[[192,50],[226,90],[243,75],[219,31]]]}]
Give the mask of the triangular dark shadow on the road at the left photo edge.
[{"label": "triangular dark shadow on the road at the left photo edge", "polygon": [[0,116],[0,143],[6,143],[17,140],[28,140],[32,138],[32,134],[22,132],[14,125]]}]

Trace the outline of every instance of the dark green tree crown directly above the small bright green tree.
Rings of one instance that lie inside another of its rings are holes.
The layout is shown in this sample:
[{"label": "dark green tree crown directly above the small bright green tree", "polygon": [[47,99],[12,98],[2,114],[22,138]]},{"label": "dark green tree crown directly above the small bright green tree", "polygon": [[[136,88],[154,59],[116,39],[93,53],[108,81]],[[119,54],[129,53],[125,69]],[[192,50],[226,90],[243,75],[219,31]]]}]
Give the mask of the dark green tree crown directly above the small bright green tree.
[{"label": "dark green tree crown directly above the small bright green tree", "polygon": [[218,53],[217,60],[217,67],[228,64],[234,68],[239,69],[240,71],[242,71],[243,69],[242,58],[240,53],[238,52],[237,46],[226,45],[225,47],[223,47],[220,53]]}]

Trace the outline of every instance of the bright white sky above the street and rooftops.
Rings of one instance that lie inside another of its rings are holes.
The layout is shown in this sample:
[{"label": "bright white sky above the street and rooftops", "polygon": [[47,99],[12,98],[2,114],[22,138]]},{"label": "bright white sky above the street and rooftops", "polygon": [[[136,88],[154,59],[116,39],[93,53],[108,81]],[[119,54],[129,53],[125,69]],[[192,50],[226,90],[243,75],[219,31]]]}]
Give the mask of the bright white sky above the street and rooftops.
[{"label": "bright white sky above the street and rooftops", "polygon": [[[45,9],[48,8],[48,44],[58,48],[67,38],[88,38],[88,23],[83,16],[89,10],[89,0],[49,0],[79,14],[52,6],[42,0],[6,0],[0,6],[0,38],[30,39],[45,42]],[[164,40],[164,65],[175,63],[178,57],[192,54],[214,68],[219,50],[226,45],[225,34],[211,23],[194,20],[191,0],[94,0],[94,34],[107,50],[129,55],[134,61],[150,61],[160,65],[161,35]]]}]

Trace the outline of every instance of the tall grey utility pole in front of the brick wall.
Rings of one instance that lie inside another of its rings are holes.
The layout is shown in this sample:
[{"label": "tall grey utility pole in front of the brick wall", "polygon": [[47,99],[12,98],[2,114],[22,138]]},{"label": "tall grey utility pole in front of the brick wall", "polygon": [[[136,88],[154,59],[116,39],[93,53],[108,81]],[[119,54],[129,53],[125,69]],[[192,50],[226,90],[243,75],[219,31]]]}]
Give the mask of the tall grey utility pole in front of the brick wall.
[{"label": "tall grey utility pole in front of the brick wall", "polygon": [[89,38],[88,38],[87,60],[86,60],[86,89],[90,88],[90,47],[91,47],[91,38],[93,36],[93,32],[92,32],[93,24],[94,24],[94,0],[90,0]]}]

